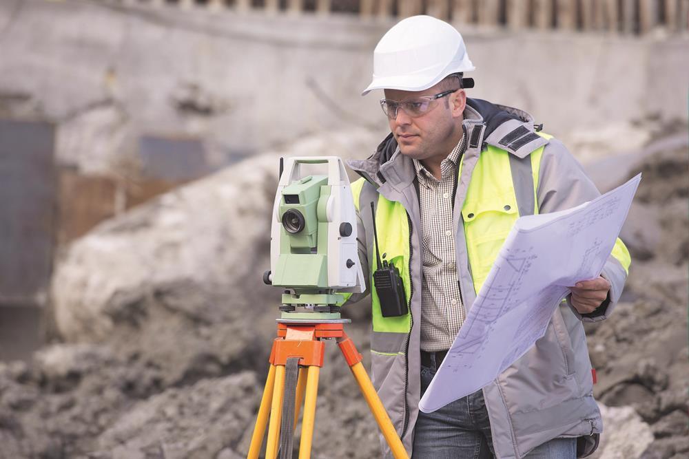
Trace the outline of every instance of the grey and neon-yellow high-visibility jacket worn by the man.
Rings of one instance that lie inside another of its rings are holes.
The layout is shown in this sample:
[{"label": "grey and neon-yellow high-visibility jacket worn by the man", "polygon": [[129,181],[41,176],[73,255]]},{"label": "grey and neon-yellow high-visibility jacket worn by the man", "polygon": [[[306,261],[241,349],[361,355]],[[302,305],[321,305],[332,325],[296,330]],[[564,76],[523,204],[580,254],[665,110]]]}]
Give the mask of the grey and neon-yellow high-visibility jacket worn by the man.
[{"label": "grey and neon-yellow high-visibility jacket worn by the man", "polygon": [[[453,202],[457,281],[466,308],[520,215],[568,209],[599,195],[562,143],[537,133],[524,111],[468,100],[467,147],[457,171]],[[358,209],[358,239],[369,279],[373,332],[371,377],[395,428],[411,454],[420,399],[421,213],[410,158],[388,136],[367,160],[349,166],[362,178],[351,186]],[[382,317],[370,273],[375,270],[374,206],[380,253],[397,266],[409,313]],[[581,437],[582,455],[595,449],[602,429],[593,399],[591,365],[581,321],[606,319],[621,294],[630,264],[618,239],[603,270],[612,285],[594,314],[562,303],[545,336],[484,387],[498,457],[520,458],[557,436]],[[370,269],[369,269],[370,267]],[[365,295],[365,294],[364,294]],[[386,455],[387,445],[382,443]]]}]

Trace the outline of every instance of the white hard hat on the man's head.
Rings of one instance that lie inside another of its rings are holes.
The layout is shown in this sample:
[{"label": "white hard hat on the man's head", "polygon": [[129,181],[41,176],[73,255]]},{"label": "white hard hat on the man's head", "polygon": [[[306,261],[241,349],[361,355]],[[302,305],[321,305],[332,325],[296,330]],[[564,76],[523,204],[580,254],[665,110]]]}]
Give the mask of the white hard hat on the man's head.
[{"label": "white hard hat on the man's head", "polygon": [[457,29],[430,16],[413,16],[383,35],[373,51],[373,89],[423,91],[442,78],[475,67]]}]

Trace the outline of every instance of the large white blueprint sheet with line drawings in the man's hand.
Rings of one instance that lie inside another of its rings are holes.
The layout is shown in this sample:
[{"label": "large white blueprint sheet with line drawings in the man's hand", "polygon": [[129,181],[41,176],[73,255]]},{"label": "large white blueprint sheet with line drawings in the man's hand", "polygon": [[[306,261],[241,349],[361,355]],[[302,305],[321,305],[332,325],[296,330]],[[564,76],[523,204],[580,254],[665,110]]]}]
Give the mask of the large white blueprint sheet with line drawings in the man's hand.
[{"label": "large white blueprint sheet with line drawings in the man's hand", "polygon": [[419,402],[422,412],[491,383],[543,337],[568,286],[600,275],[639,180],[641,174],[573,209],[515,222]]}]

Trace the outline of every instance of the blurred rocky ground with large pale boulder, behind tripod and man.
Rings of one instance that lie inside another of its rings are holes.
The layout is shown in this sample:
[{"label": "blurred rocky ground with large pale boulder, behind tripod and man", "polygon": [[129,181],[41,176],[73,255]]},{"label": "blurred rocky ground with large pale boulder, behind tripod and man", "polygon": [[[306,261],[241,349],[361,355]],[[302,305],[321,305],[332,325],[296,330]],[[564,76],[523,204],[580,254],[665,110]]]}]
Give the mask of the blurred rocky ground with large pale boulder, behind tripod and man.
[{"label": "blurred rocky ground with large pale boulder, behind tripod and man", "polygon": [[[347,157],[373,142],[348,132],[282,153]],[[0,459],[245,457],[277,313],[276,292],[260,281],[277,156],[168,193],[62,255],[56,339],[28,363],[0,363]],[[644,173],[623,234],[633,266],[613,318],[586,325],[596,395],[610,407],[599,457],[684,458],[686,144],[624,166],[620,180]],[[366,365],[368,308],[345,312]],[[327,347],[313,457],[377,457],[376,425],[336,345]]]}]

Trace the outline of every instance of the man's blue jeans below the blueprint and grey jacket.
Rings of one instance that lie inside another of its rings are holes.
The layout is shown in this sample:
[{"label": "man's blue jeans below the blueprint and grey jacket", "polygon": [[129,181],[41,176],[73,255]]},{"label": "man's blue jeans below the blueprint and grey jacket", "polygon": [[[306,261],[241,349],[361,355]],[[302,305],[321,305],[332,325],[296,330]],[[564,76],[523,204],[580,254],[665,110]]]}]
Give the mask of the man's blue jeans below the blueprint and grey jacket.
[{"label": "man's blue jeans below the blueprint and grey jacket", "polygon": [[[421,365],[421,393],[437,371]],[[491,422],[483,392],[453,401],[433,413],[419,412],[414,434],[413,459],[493,458]],[[553,438],[526,455],[528,459],[575,459],[576,438]]]}]

